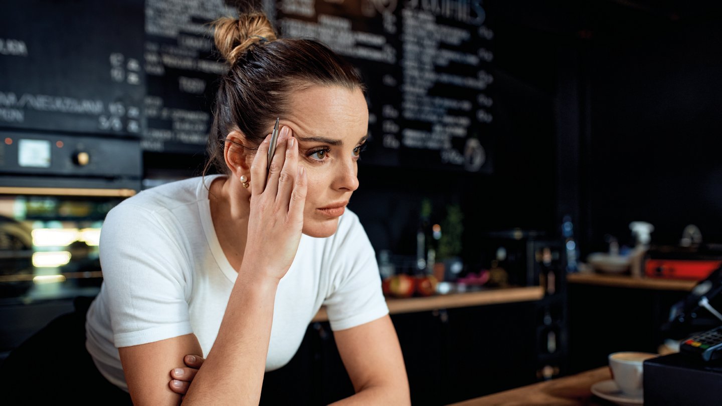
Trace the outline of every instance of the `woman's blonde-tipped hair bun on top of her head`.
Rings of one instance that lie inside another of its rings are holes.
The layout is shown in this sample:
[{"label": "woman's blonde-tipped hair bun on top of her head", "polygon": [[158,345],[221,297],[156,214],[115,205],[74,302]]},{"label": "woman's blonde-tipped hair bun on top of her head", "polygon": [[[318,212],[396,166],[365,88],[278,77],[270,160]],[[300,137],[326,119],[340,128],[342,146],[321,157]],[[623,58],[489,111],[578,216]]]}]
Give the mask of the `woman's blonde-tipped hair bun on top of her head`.
[{"label": "woman's blonde-tipped hair bun on top of her head", "polygon": [[260,12],[241,14],[238,18],[221,17],[213,26],[216,48],[231,66],[253,45],[276,39],[271,22]]}]

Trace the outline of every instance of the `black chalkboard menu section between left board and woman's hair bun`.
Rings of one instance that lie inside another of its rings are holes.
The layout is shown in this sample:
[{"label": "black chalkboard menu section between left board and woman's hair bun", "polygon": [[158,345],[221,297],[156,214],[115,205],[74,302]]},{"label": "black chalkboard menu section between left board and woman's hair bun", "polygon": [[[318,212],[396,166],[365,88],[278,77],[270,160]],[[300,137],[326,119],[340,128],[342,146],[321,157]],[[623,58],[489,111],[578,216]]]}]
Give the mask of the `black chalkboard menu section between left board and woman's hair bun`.
[{"label": "black chalkboard menu section between left board and woman's hair bun", "polygon": [[214,80],[227,66],[214,53],[209,22],[238,15],[223,0],[146,0],[146,151],[204,151]]}]

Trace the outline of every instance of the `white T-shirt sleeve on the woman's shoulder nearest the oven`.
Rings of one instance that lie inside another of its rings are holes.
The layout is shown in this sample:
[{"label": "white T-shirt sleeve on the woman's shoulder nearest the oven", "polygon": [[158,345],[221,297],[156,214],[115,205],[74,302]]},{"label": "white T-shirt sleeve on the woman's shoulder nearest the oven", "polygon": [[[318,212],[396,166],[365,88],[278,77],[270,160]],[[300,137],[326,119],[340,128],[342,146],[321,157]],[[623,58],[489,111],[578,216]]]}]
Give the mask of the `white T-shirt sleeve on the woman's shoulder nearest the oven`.
[{"label": "white T-shirt sleeve on the woman's shoulder nearest the oven", "polygon": [[100,267],[116,347],[192,332],[186,301],[190,266],[156,213],[121,203],[100,234]]}]

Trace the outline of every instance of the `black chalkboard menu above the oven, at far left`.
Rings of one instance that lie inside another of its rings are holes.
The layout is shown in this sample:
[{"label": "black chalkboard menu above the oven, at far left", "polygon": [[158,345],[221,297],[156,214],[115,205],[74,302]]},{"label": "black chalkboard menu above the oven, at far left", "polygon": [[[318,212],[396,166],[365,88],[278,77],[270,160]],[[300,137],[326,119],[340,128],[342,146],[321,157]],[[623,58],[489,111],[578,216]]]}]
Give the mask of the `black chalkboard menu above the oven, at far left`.
[{"label": "black chalkboard menu above the oven, at far left", "polygon": [[145,132],[143,0],[0,6],[0,128]]}]

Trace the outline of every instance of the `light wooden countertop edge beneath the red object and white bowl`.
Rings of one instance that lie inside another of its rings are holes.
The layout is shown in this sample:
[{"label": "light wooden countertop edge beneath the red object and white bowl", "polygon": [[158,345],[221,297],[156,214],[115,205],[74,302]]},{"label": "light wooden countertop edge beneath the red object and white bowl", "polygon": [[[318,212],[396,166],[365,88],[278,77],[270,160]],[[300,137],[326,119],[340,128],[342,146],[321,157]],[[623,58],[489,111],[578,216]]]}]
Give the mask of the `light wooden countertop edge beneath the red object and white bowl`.
[{"label": "light wooden countertop edge beneath the red object and white bowl", "polygon": [[567,273],[567,283],[658,291],[692,291],[692,288],[698,282],[683,279],[632,278],[630,275],[606,275],[601,273]]}]

